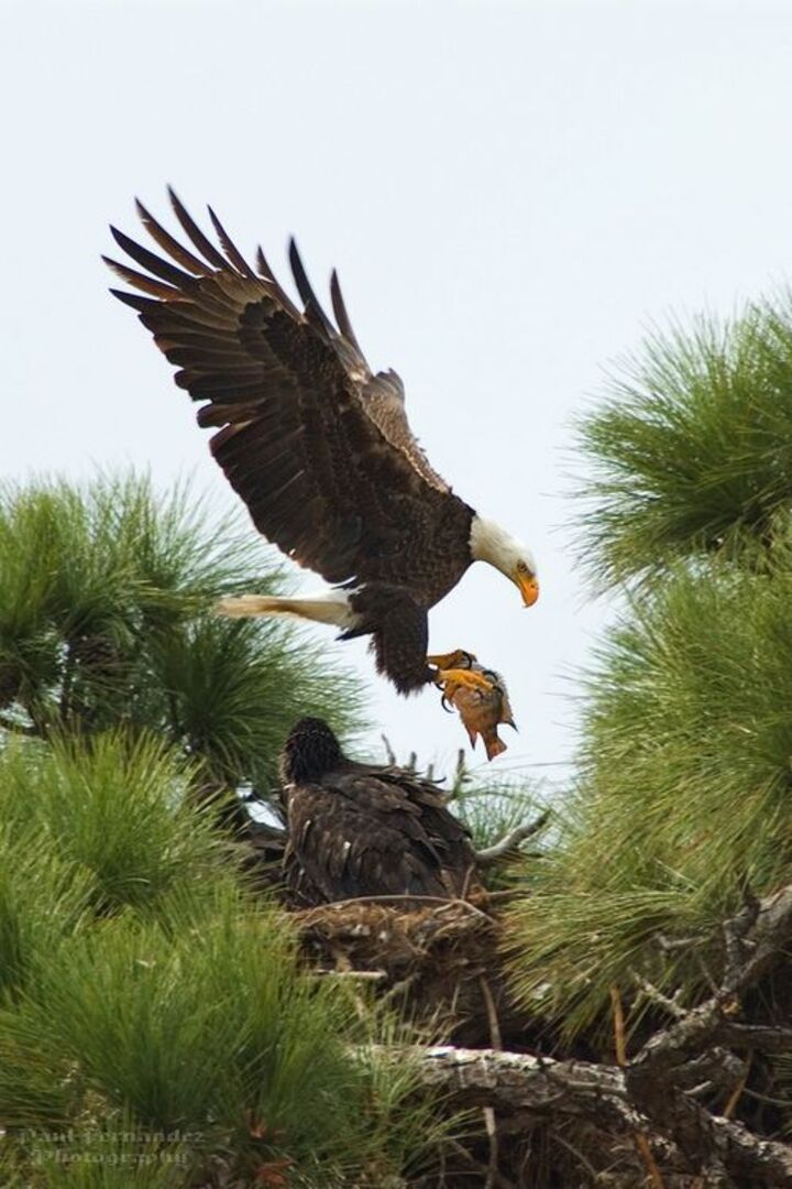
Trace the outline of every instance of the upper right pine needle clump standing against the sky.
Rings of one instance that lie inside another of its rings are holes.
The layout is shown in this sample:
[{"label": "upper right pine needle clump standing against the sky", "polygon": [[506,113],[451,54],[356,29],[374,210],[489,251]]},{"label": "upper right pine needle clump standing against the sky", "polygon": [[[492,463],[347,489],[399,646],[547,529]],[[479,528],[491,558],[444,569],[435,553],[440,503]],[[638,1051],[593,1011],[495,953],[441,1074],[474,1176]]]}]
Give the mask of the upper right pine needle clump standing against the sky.
[{"label": "upper right pine needle clump standing against the sky", "polygon": [[755,555],[792,503],[792,301],[654,334],[579,439],[578,552],[597,585]]}]

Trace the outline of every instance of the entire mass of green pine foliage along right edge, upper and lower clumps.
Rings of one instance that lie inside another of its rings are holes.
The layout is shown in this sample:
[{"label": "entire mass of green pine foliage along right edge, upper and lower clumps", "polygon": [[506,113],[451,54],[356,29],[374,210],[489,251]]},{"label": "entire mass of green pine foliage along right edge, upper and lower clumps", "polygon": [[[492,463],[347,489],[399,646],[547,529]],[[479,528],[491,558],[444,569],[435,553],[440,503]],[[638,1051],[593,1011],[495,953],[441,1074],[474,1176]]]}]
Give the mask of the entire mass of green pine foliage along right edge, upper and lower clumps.
[{"label": "entire mass of green pine foliage along right edge, upper and lower clumps", "polygon": [[511,912],[526,1004],[568,1034],[641,977],[693,1002],[746,888],[792,880],[792,315],[761,306],[648,348],[589,417],[583,522],[641,578],[587,675],[558,844]]}]

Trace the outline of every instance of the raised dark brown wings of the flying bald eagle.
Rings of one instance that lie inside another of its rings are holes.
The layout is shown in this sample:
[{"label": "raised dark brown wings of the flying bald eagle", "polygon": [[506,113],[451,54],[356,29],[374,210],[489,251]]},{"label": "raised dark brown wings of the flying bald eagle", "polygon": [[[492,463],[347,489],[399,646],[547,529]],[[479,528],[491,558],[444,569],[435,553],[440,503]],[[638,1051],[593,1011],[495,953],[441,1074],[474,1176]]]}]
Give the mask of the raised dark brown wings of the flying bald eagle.
[{"label": "raised dark brown wings of the flying bald eagle", "polygon": [[[107,263],[139,294],[114,290],[179,371],[211,451],[256,528],[330,583],[388,581],[407,553],[427,553],[449,502],[404,411],[394,372],[373,375],[332,275],[332,325],[292,243],[300,310],[259,249],[255,270],[210,218],[221,247],[171,191],[185,247],[138,203],[158,256],[113,229],[142,270]],[[106,258],[107,259],[107,258]],[[445,510],[445,511],[444,511]]]}]

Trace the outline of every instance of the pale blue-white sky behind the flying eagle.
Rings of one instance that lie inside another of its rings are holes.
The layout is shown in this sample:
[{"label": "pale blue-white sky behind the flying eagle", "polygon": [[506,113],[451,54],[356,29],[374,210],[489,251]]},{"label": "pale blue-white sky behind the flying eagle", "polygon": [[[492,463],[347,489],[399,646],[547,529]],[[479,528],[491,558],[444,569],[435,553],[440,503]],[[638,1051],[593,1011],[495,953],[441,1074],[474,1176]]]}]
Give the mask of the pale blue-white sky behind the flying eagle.
[{"label": "pale blue-white sky behind the flying eagle", "polygon": [[[317,291],[338,266],[436,468],[537,555],[534,608],[475,566],[431,647],[505,673],[520,735],[493,768],[560,775],[608,614],[560,528],[570,426],[651,322],[792,277],[792,6],[6,0],[0,25],[0,472],[132,464],[230,508],[99,256],[109,221],[138,234],[134,195],[166,214],[166,182],[281,279],[293,232]],[[455,755],[437,692],[400,699],[365,644],[309,630],[400,755]]]}]

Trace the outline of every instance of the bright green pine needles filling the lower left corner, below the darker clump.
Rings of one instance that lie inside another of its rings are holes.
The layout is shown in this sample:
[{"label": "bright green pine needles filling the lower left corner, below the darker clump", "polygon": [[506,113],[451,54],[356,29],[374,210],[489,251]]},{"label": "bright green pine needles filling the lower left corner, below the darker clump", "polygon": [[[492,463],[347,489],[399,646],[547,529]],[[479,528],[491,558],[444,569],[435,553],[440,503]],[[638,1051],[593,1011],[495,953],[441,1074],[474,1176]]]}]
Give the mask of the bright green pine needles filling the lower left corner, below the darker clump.
[{"label": "bright green pine needles filling the lower left corner, below the darker clump", "polygon": [[189,782],[153,738],[0,756],[4,1183],[379,1185],[430,1109],[378,1064],[378,1013],[298,969]]}]

